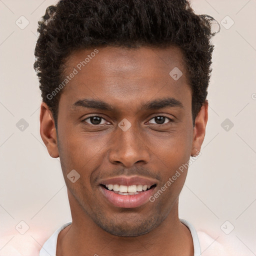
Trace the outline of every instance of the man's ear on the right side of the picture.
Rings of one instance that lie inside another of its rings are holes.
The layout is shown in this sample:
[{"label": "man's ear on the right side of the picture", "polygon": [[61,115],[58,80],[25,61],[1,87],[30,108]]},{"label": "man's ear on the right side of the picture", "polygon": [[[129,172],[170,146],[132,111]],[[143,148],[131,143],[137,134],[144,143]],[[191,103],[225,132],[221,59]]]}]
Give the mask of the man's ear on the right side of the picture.
[{"label": "man's ear on the right side of the picture", "polygon": [[191,156],[199,154],[205,135],[205,127],[208,120],[208,100],[206,99],[197,113],[193,128],[193,141],[191,147]]}]

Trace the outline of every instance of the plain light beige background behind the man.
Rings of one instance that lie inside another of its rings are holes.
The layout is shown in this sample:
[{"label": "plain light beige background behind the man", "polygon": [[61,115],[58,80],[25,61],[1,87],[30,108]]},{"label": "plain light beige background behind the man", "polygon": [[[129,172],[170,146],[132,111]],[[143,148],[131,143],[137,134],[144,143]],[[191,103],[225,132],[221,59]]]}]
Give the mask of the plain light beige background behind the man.
[{"label": "plain light beige background behind the man", "polygon": [[[71,219],[59,159],[40,138],[33,70],[37,20],[55,2],[0,0],[0,255],[25,235],[37,242]],[[231,239],[244,254],[256,255],[256,0],[191,2],[196,13],[234,24],[221,24],[213,39],[206,136],[179,214],[215,241]],[[21,15],[29,21],[24,29],[15,23]],[[23,131],[16,127],[21,118],[29,124]],[[221,126],[226,118],[233,123],[228,131]],[[29,226],[24,235],[15,229],[21,220]],[[230,234],[220,228],[226,220],[225,229],[234,226]]]}]

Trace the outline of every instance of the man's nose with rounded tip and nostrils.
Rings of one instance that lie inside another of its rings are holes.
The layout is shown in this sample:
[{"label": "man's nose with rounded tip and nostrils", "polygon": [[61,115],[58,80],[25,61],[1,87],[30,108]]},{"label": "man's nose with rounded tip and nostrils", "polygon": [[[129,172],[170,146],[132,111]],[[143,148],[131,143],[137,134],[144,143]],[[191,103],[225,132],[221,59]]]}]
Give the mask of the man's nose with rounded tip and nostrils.
[{"label": "man's nose with rounded tip and nostrils", "polygon": [[126,131],[118,127],[110,142],[109,161],[121,163],[125,167],[131,167],[136,162],[147,163],[149,148],[140,133],[134,125]]}]

